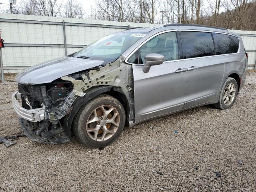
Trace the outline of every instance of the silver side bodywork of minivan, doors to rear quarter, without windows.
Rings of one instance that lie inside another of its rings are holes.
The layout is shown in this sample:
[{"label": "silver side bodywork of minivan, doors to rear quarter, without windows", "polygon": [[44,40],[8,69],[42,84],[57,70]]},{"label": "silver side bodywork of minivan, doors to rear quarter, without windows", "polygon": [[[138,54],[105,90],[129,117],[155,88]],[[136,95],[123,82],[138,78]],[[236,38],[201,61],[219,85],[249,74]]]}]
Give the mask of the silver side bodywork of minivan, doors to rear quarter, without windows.
[{"label": "silver side bodywork of minivan, doors to rear quarter, without windows", "polygon": [[[158,28],[141,38],[122,54],[126,63],[132,54],[150,38],[170,31],[201,31],[229,34],[239,38],[239,50],[223,54],[164,62],[152,66],[145,74],[143,65],[132,64],[134,73],[135,124],[166,114],[218,102],[222,84],[230,74],[238,74],[242,88],[247,59],[242,38],[233,32],[199,26],[169,26]],[[175,73],[178,68],[197,66],[196,70]]]}]

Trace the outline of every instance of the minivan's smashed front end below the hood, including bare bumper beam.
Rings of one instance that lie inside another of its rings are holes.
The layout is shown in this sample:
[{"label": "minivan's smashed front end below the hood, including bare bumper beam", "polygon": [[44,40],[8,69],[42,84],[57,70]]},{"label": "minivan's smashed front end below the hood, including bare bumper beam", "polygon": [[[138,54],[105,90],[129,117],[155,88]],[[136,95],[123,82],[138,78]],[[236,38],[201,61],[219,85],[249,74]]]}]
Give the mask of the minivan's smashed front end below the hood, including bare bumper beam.
[{"label": "minivan's smashed front end below the hood, including bare bumper beam", "polygon": [[[24,85],[12,95],[14,110],[18,113],[25,134],[34,141],[64,143],[70,138],[62,128],[62,117],[71,111],[77,97],[72,84]],[[70,99],[69,99],[70,98]],[[18,100],[21,100],[20,106]]]}]

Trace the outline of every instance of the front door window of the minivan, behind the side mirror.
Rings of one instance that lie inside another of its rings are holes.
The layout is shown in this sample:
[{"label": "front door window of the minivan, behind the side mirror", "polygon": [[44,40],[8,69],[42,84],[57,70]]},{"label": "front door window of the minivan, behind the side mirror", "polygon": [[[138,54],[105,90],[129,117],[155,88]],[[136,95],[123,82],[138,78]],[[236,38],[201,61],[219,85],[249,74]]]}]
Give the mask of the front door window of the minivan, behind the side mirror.
[{"label": "front door window of the minivan, behind the side mirror", "polygon": [[140,47],[140,64],[145,64],[145,56],[158,53],[164,56],[165,61],[179,58],[176,32],[167,32],[155,36]]}]

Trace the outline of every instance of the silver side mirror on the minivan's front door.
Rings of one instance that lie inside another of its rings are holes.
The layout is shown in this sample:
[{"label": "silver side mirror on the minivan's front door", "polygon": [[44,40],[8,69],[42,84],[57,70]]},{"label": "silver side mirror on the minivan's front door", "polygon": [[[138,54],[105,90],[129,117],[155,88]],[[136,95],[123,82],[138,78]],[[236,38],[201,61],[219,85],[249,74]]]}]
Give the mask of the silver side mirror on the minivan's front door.
[{"label": "silver side mirror on the minivan's front door", "polygon": [[150,67],[153,65],[160,65],[164,62],[164,56],[157,53],[150,53],[145,56],[145,64],[142,68],[144,73],[147,73],[150,70]]}]

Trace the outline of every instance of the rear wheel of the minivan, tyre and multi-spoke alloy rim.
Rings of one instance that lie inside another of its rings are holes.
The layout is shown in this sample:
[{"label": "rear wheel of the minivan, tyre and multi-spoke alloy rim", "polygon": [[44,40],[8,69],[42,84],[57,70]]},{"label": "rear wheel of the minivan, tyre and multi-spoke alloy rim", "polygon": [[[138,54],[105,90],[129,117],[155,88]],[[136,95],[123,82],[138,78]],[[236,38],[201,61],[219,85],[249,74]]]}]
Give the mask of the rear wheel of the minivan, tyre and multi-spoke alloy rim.
[{"label": "rear wheel of the minivan, tyre and multi-spoke alloy rim", "polygon": [[[234,90],[235,89],[235,90]],[[214,104],[214,107],[226,110],[231,108],[236,101],[236,97],[238,94],[238,85],[235,79],[228,77],[220,91],[220,98],[218,103]],[[227,98],[228,97],[228,98]]]}]

